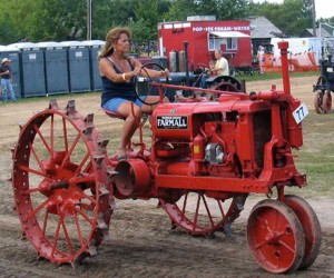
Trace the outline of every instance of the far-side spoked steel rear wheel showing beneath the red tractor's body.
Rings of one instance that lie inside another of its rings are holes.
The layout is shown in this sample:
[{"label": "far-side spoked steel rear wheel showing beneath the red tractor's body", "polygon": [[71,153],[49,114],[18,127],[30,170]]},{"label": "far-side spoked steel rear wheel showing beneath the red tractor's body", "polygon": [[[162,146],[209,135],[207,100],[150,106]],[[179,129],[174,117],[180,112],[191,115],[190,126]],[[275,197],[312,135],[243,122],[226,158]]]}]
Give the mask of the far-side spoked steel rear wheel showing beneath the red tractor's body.
[{"label": "far-side spoked steel rear wheel showing beneath the red tractor's body", "polygon": [[177,202],[160,200],[173,221],[190,235],[212,235],[217,230],[230,232],[230,224],[239,217],[247,195],[227,200],[207,197],[203,192],[187,192]]}]

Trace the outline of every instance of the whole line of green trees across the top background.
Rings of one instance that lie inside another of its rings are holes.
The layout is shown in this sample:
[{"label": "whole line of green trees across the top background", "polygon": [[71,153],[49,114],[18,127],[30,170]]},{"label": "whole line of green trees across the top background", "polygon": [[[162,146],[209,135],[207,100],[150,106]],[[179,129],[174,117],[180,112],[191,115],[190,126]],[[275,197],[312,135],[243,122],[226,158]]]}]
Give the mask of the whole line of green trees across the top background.
[{"label": "whole line of green trees across the top background", "polygon": [[[135,41],[157,40],[157,24],[185,21],[188,16],[217,20],[264,16],[286,37],[312,28],[313,0],[255,3],[253,0],[91,0],[91,38],[105,40],[116,26],[128,26]],[[1,0],[0,44],[21,40],[63,41],[87,38],[87,0]],[[318,19],[333,22],[333,18]]]}]

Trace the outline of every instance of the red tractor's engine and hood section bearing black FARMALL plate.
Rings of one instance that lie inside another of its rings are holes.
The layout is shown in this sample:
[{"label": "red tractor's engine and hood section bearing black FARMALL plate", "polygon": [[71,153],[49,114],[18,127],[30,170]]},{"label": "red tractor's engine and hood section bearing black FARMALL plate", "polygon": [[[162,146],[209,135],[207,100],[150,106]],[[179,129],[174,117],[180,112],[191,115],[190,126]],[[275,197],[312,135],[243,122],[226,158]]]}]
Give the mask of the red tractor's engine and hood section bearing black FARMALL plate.
[{"label": "red tractor's engine and hood section bearing black FARMALL plate", "polygon": [[259,172],[272,137],[269,110],[239,112],[217,103],[220,109],[198,102],[155,110],[153,155],[158,172],[236,178]]}]

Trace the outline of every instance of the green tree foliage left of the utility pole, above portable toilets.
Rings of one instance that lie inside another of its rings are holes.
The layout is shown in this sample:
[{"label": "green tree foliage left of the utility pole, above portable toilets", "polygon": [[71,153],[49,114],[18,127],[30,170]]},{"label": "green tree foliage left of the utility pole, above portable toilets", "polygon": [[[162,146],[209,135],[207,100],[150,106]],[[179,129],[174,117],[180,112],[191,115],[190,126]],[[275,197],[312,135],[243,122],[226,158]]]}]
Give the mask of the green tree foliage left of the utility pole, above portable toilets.
[{"label": "green tree foliage left of the utility pole, above portable toilets", "polygon": [[12,40],[31,41],[82,39],[86,37],[86,1],[82,0],[2,0],[1,10]]}]

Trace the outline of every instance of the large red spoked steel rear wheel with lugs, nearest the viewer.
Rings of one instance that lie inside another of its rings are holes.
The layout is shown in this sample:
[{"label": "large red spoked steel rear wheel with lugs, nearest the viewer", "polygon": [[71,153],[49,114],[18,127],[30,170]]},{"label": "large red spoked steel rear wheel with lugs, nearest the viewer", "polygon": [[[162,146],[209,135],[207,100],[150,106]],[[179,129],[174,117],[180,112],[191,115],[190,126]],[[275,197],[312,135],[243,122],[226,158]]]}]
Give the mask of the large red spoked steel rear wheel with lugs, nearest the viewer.
[{"label": "large red spoked steel rear wheel with lugs, nearest the viewer", "polygon": [[22,127],[12,186],[22,230],[40,257],[76,262],[96,255],[111,208],[104,147],[92,125],[69,102],[56,102]]}]

